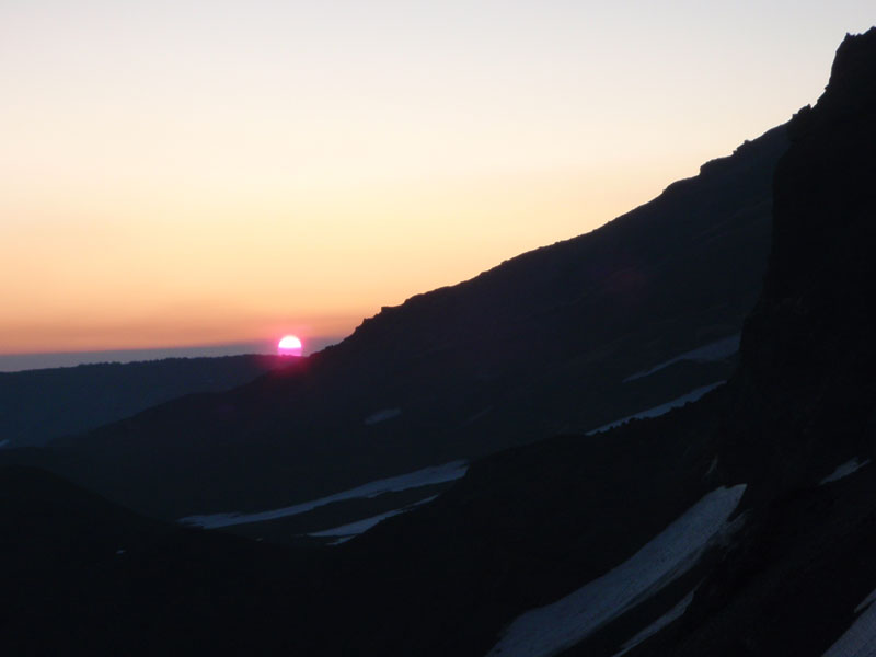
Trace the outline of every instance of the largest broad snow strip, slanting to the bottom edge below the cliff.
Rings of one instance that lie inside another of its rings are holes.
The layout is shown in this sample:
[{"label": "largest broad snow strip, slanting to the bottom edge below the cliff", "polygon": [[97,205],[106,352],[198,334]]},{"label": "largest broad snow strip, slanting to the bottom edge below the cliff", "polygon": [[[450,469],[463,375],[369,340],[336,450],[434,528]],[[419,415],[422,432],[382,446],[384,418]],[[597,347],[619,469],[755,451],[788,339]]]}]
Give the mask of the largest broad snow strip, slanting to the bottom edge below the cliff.
[{"label": "largest broad snow strip, slanting to the bottom edge below the cliff", "polygon": [[728,519],[745,489],[739,484],[707,494],[621,565],[515,619],[487,655],[556,655],[646,600],[689,570],[714,539],[736,529]]}]

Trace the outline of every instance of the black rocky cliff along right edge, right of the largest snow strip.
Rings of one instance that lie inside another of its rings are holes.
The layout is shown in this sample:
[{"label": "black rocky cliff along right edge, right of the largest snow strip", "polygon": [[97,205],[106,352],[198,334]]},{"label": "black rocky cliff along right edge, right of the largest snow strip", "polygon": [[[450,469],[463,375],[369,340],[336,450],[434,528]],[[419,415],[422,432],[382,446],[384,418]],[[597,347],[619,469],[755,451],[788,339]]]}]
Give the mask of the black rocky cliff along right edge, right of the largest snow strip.
[{"label": "black rocky cliff along right edge, right of the largest snow strip", "polygon": [[746,527],[683,619],[633,655],[827,654],[876,585],[876,28],[845,38],[788,136],[715,435],[719,476],[749,484]]}]

